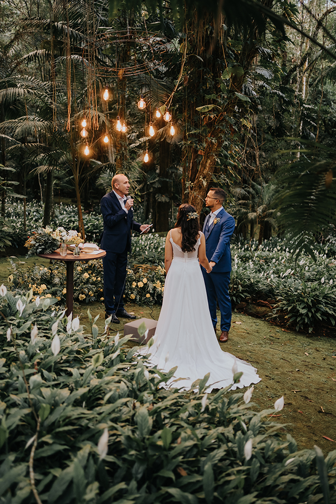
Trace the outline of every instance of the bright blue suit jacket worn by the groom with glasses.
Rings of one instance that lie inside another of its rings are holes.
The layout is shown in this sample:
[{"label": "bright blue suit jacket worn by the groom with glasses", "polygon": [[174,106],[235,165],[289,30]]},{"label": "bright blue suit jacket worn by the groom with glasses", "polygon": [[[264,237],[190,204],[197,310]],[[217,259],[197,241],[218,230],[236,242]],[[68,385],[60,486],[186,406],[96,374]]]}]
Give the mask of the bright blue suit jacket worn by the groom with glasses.
[{"label": "bright blue suit jacket worn by the groom with glasses", "polygon": [[203,233],[206,238],[208,261],[209,263],[210,261],[216,263],[213,272],[224,273],[231,271],[230,239],[235,229],[235,220],[224,208],[218,212],[216,217],[220,218],[220,221],[216,224],[211,224],[209,231],[207,227],[210,214],[206,217]]}]

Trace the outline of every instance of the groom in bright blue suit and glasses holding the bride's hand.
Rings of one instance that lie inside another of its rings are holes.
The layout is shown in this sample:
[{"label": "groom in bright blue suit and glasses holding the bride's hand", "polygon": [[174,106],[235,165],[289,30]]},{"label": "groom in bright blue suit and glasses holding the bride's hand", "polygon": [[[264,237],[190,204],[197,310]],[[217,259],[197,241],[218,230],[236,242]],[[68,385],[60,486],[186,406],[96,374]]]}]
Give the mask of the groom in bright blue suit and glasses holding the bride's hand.
[{"label": "groom in bright blue suit and glasses holding the bride's hand", "polygon": [[235,228],[235,220],[223,208],[225,192],[218,187],[211,187],[206,197],[206,207],[211,212],[206,217],[203,233],[206,237],[207,258],[212,266],[211,273],[202,267],[206,284],[211,319],[216,332],[217,301],[221,311],[221,331],[219,341],[228,341],[231,326],[231,299],[229,283],[231,273],[230,239]]}]

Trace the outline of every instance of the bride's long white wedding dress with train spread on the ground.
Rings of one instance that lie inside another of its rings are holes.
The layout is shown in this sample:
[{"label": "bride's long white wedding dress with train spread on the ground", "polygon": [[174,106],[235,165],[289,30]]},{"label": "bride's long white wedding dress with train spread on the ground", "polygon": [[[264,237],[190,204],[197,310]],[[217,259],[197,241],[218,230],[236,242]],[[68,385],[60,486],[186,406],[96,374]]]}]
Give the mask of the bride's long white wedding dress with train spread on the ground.
[{"label": "bride's long white wedding dress with train spread on the ground", "polygon": [[[210,317],[203,275],[197,255],[200,237],[194,252],[182,252],[173,241],[173,260],[168,270],[163,303],[156,328],[155,343],[141,349],[151,354],[150,363],[165,372],[178,366],[170,386],[189,390],[191,384],[210,372],[207,392],[233,383],[232,367],[236,362],[243,375],[238,384],[242,388],[261,379],[256,369],[244,360],[223,352]],[[236,370],[237,372],[237,370]],[[174,382],[176,379],[183,379]]]}]

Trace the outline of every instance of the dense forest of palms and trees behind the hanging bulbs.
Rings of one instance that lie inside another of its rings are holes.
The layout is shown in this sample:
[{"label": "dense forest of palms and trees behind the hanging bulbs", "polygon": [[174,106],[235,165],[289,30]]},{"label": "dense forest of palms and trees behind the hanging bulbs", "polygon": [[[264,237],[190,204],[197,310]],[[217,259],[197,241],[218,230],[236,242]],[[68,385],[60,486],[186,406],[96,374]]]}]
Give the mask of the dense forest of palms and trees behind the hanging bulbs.
[{"label": "dense forest of palms and trees behind the hanging bulbs", "polygon": [[44,225],[74,199],[84,235],[82,207],[124,172],[157,231],[181,202],[201,211],[216,185],[244,238],[287,231],[299,249],[321,239],[334,222],[335,10],[3,2],[2,216],[13,180],[44,203]]}]

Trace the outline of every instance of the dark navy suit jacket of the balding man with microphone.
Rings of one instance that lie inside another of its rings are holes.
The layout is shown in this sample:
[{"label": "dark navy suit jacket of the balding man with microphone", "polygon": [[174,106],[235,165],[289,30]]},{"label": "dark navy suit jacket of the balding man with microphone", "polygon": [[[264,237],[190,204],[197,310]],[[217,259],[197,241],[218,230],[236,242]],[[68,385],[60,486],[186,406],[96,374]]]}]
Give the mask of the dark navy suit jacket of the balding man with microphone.
[{"label": "dark navy suit jacket of the balding man with microphone", "polygon": [[130,231],[135,229],[140,232],[141,226],[133,221],[133,210],[129,209],[126,214],[113,191],[102,197],[100,209],[104,220],[101,248],[116,254],[125,249],[130,252]]}]

